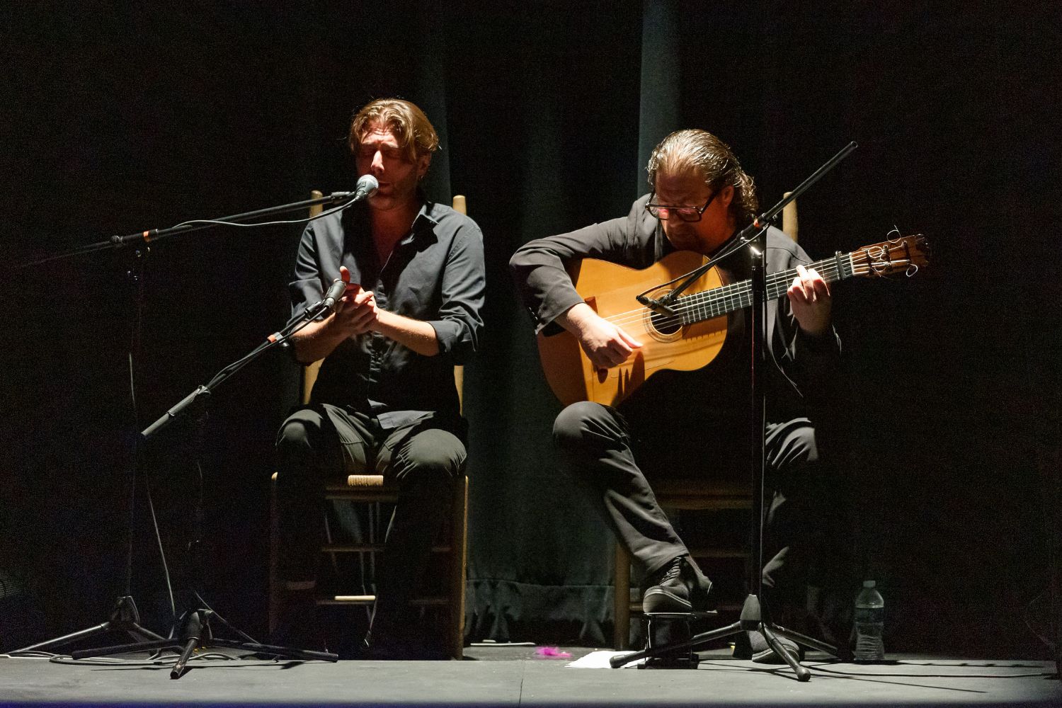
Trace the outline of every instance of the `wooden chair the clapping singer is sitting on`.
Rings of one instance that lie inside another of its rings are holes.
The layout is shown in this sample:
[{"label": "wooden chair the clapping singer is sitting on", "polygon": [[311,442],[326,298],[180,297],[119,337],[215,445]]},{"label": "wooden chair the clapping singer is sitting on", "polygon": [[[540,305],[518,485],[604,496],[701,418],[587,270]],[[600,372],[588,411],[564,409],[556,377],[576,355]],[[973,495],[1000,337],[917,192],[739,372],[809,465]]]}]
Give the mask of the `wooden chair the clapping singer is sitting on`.
[{"label": "wooden chair the clapping singer is sitting on", "polygon": [[[321,192],[314,191],[314,196],[321,196]],[[453,208],[461,213],[465,212],[465,198],[462,195],[453,197]],[[320,211],[320,207],[315,207]],[[314,362],[304,368],[303,375],[303,403],[308,403],[310,391],[316,380],[318,369],[321,362]],[[459,398],[463,395],[464,369],[462,366],[453,367],[453,378],[458,388]],[[277,531],[277,506],[276,506],[276,473],[273,474],[274,486],[271,494],[270,510],[270,607],[269,620],[270,631],[276,627],[279,614],[279,576],[278,568],[278,531]],[[397,501],[397,487],[387,484],[381,474],[350,474],[345,481],[329,484],[325,488],[325,499],[343,500],[359,504],[367,504],[370,518],[379,519],[381,517],[380,505],[393,504]],[[383,523],[370,524],[372,533],[369,538],[361,542],[331,542],[330,529],[328,529],[328,542],[322,546],[321,551],[329,554],[333,567],[337,565],[338,554],[357,554],[363,568],[364,559],[369,559],[369,572],[375,567],[375,556],[383,550],[382,534],[386,526]],[[446,592],[439,595],[414,598],[414,606],[435,606],[444,608],[446,618],[446,651],[455,659],[462,658],[464,654],[464,616],[465,616],[465,570],[467,567],[467,537],[468,537],[468,478],[462,477],[453,485],[453,496],[450,505],[450,515],[445,524],[445,533],[433,547],[432,554],[446,554]],[[378,533],[377,533],[378,532]],[[379,536],[379,537],[377,537]],[[364,576],[363,576],[364,577]],[[363,590],[364,588],[362,588]],[[376,595],[361,591],[359,593],[338,594],[332,593],[327,597],[318,598],[319,605],[345,605],[371,607],[376,602]]]}]

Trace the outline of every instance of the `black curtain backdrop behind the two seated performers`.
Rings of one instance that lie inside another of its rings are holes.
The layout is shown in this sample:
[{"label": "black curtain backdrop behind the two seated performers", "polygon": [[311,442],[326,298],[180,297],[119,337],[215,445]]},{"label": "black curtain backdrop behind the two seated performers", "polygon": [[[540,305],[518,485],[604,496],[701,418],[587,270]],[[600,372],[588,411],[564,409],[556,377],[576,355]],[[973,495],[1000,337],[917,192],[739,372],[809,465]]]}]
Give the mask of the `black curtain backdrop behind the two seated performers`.
[{"label": "black curtain backdrop behind the two seated performers", "polygon": [[[702,126],[742,157],[765,206],[859,142],[801,200],[812,255],[893,226],[929,237],[933,264],[917,277],[837,288],[858,570],[883,587],[890,649],[1041,651],[1026,621],[1046,622],[1027,605],[1057,534],[1043,495],[1059,439],[1051,3],[3,12],[3,649],[104,619],[125,586],[135,433],[284,322],[298,228],[10,266],[350,189],[350,111],[397,94],[444,138],[429,191],[466,194],[486,239],[487,332],[466,374],[470,636],[607,636],[610,540],[555,470],[558,404],[507,261],[531,238],[626,213],[648,149]],[[137,420],[127,273],[141,266]],[[258,633],[272,439],[295,378],[282,355],[244,369],[218,392],[203,444],[205,590]],[[192,456],[172,445],[147,460],[178,576]],[[144,506],[138,497],[133,590],[160,629],[168,601]]]}]

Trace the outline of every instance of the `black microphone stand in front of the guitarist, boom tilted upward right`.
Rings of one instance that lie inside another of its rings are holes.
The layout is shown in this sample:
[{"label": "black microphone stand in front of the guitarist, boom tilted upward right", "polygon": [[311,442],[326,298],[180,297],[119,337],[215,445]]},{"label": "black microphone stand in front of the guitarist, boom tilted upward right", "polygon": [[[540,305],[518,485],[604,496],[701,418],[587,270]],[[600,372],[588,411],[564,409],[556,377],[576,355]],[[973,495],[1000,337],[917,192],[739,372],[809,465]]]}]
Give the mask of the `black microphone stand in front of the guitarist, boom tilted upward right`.
[{"label": "black microphone stand in front of the guitarist, boom tilted upward right", "polygon": [[[649,646],[641,652],[619,654],[609,659],[613,669],[618,669],[631,661],[639,659],[649,660],[664,656],[678,655],[680,653],[691,652],[697,646],[730,637],[740,632],[758,632],[767,644],[785,659],[795,674],[796,680],[807,681],[811,678],[811,672],[802,666],[794,656],[785,651],[778,637],[791,639],[799,644],[810,646],[825,652],[830,656],[838,657],[838,647],[826,642],[806,637],[802,634],[787,629],[773,623],[770,616],[766,618],[761,610],[761,598],[764,595],[764,491],[765,478],[767,472],[766,453],[766,399],[764,396],[764,385],[760,369],[767,363],[767,229],[771,220],[774,219],[782,209],[804,193],[811,185],[819,180],[826,172],[832,170],[838,162],[847,157],[849,153],[856,149],[855,142],[850,142],[843,150],[834,155],[825,165],[819,168],[811,176],[805,179],[791,194],[783,198],[776,205],[765,211],[752,221],[751,224],[742,228],[737,234],[734,248],[748,246],[752,254],[752,310],[750,316],[750,328],[752,330],[752,356],[750,370],[752,374],[751,386],[751,409],[752,419],[750,426],[750,439],[752,442],[752,456],[750,460],[750,471],[752,476],[753,494],[753,518],[752,518],[752,547],[756,553],[756,565],[750,569],[749,587],[755,588],[756,592],[750,593],[741,607],[741,616],[737,622],[713,629],[691,637],[688,641],[660,646]],[[734,249],[723,254],[725,257]],[[695,282],[713,263],[719,258],[708,261],[705,265],[691,271],[688,277],[675,290],[661,298],[660,305],[669,307],[678,295]]]}]

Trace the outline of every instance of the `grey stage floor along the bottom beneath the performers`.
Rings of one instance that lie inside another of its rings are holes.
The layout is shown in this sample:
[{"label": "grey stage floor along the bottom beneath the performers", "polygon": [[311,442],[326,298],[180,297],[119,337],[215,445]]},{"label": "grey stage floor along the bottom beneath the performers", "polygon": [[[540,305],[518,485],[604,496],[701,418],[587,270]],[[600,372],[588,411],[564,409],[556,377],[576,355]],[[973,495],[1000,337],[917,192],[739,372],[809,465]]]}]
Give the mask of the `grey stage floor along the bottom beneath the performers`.
[{"label": "grey stage floor along the bottom beneath the performers", "polygon": [[[696,670],[577,668],[587,649],[536,658],[533,646],[469,647],[465,661],[277,662],[203,658],[167,664],[0,659],[0,705],[130,706],[1059,706],[1054,662],[897,655],[886,664],[805,660],[787,667],[700,654]],[[610,653],[611,654],[611,653]],[[139,658],[142,658],[140,655]],[[98,660],[99,661],[99,660]]]}]

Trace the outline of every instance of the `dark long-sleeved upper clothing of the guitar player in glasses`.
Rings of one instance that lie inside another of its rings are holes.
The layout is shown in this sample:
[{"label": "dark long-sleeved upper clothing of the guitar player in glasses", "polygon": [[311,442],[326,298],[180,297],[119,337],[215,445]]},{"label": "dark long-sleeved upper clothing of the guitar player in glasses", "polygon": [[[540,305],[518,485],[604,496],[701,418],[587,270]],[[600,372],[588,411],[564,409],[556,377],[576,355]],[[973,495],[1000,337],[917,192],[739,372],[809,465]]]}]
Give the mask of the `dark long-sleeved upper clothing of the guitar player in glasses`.
[{"label": "dark long-sleeved upper clothing of the guitar player in glasses", "polygon": [[[645,209],[648,201],[648,194],[635,201],[627,217],[537,239],[517,249],[510,266],[536,331],[555,327],[558,316],[582,301],[566,262],[588,257],[644,269],[674,251],[660,221]],[[768,273],[809,260],[792,239],[773,227],[768,230],[767,246]],[[720,269],[731,281],[744,280],[748,255],[735,254]],[[742,311],[732,313],[724,349],[712,364],[697,372],[657,373],[653,385],[639,388],[620,410],[636,426],[655,420],[687,425],[690,431],[714,424],[740,430],[741,416],[749,410],[744,404],[749,399],[744,317]],[[768,415],[773,420],[807,415],[808,398],[825,390],[823,377],[836,369],[840,341],[833,330],[821,336],[803,332],[785,296],[767,304],[767,330],[768,357],[776,364],[768,367]]]}]

